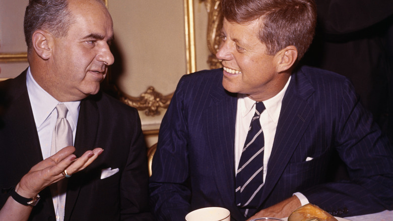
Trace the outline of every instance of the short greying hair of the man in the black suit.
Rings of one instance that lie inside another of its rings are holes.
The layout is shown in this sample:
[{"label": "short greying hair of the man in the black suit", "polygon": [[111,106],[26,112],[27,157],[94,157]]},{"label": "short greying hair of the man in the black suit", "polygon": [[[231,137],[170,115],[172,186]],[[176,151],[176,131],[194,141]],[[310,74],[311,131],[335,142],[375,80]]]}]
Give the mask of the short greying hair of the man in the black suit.
[{"label": "short greying hair of the man in the black suit", "polygon": [[33,46],[32,36],[36,30],[44,29],[55,37],[64,37],[73,22],[67,0],[29,0],[23,24],[28,51]]}]

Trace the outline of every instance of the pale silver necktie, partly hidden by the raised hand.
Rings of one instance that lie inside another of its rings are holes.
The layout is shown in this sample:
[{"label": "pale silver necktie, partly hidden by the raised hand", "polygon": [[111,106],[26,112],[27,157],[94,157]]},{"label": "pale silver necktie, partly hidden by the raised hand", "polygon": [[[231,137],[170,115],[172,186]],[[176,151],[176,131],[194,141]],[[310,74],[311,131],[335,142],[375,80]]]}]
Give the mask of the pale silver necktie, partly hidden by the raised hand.
[{"label": "pale silver necktie, partly hidden by the raised hand", "polygon": [[[55,154],[66,146],[73,145],[73,132],[67,117],[68,109],[63,103],[56,106],[57,120],[54,126],[52,136],[52,146],[50,148],[50,155]],[[67,192],[67,179],[62,179],[59,182],[50,186],[52,193],[54,210],[56,213],[56,220],[64,220],[64,206],[65,193]]]}]

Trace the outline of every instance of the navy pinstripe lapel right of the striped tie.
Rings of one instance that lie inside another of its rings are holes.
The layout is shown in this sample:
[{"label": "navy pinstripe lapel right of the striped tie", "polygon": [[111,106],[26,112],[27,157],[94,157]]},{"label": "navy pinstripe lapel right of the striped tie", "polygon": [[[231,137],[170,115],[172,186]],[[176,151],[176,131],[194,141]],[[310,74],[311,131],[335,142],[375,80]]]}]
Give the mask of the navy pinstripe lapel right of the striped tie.
[{"label": "navy pinstripe lapel right of the striped tie", "polygon": [[279,122],[268,163],[266,185],[261,204],[269,196],[281,177],[300,139],[303,137],[314,109],[307,103],[314,89],[302,72],[292,75],[284,95]]}]

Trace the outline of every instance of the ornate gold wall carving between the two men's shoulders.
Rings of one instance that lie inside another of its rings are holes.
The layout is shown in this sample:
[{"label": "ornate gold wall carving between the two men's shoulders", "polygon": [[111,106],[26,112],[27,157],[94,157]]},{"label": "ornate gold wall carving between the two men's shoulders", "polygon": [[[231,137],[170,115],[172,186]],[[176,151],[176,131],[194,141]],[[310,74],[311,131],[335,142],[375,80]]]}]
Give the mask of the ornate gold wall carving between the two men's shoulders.
[{"label": "ornate gold wall carving between the two men's shoulders", "polygon": [[162,95],[155,91],[154,87],[149,87],[140,97],[133,97],[122,93],[120,100],[129,105],[137,108],[139,111],[145,111],[147,116],[159,115],[159,107],[168,108],[173,93]]}]

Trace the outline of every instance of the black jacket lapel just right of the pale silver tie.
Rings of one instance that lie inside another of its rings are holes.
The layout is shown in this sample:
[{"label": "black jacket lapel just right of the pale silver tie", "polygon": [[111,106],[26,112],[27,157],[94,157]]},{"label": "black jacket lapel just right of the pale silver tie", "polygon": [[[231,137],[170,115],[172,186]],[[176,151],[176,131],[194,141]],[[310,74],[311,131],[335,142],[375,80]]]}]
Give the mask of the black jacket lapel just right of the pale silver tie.
[{"label": "black jacket lapel just right of the pale silver tie", "polygon": [[[95,148],[94,145],[97,137],[99,123],[99,113],[97,105],[93,98],[96,96],[90,96],[81,101],[77,133],[75,136],[75,154],[77,155],[77,157],[82,156],[83,153],[85,153],[87,150],[92,150]],[[74,209],[81,189],[81,183],[78,181],[78,174],[76,175],[77,176],[71,177],[69,179],[67,200],[65,200],[64,220],[70,219],[72,210]]]}]

